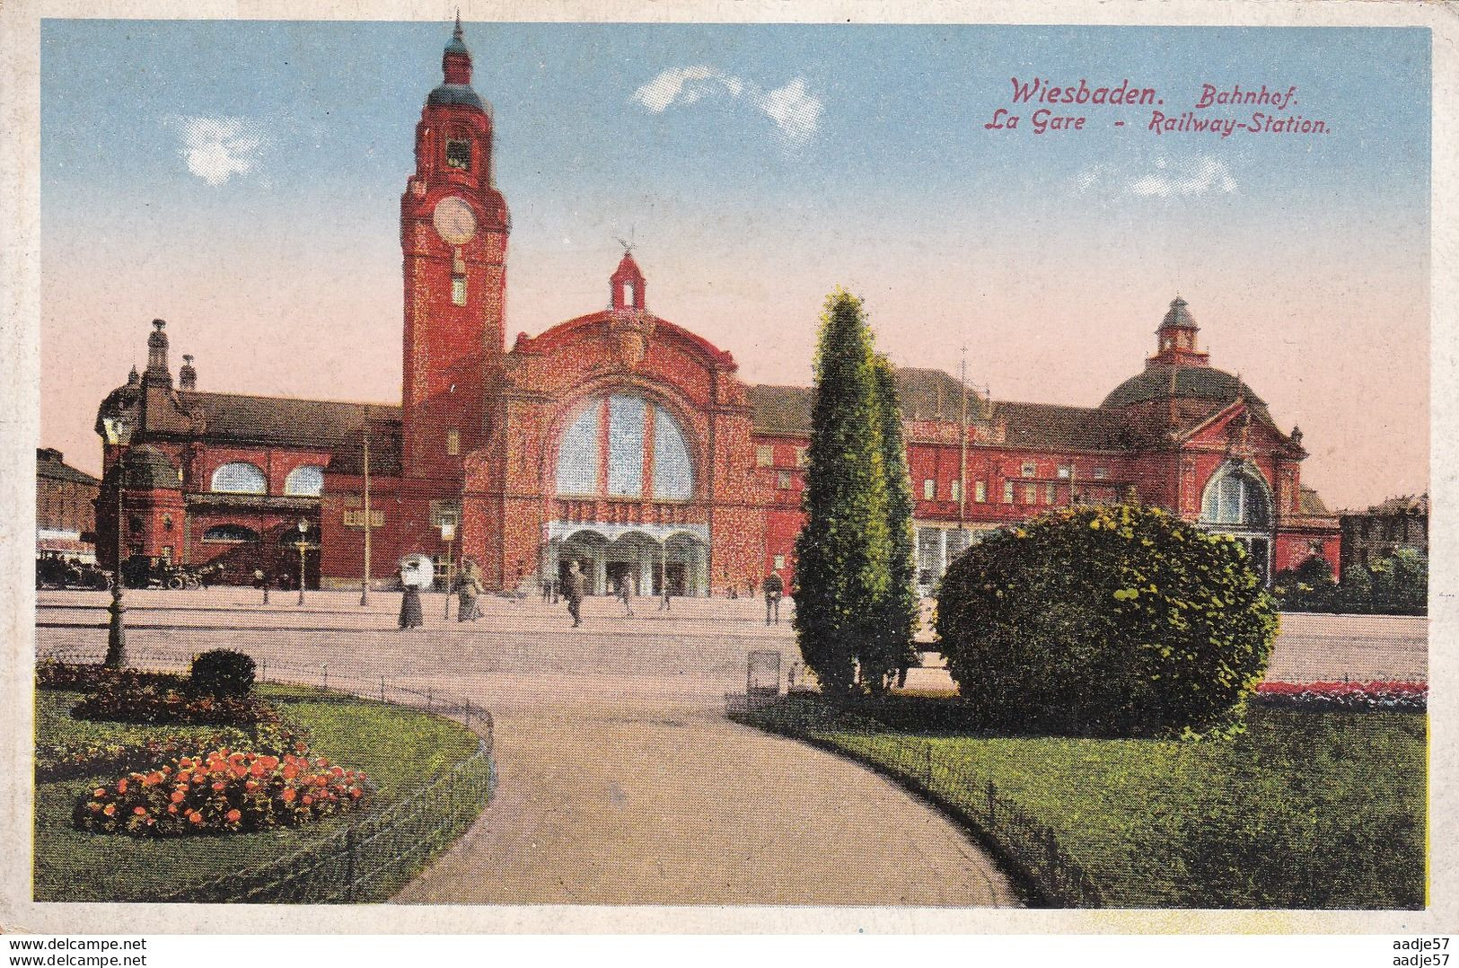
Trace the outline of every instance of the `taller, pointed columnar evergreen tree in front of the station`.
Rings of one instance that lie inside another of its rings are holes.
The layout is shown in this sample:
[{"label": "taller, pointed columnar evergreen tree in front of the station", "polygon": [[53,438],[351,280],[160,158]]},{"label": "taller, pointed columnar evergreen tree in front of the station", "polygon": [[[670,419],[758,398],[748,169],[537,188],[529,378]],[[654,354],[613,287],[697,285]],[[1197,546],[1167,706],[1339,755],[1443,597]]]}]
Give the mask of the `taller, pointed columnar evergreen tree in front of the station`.
[{"label": "taller, pointed columnar evergreen tree in front of the station", "polygon": [[826,299],[814,378],[795,632],[821,688],[845,695],[858,660],[886,648],[891,537],[871,333],[861,299],[843,289]]}]

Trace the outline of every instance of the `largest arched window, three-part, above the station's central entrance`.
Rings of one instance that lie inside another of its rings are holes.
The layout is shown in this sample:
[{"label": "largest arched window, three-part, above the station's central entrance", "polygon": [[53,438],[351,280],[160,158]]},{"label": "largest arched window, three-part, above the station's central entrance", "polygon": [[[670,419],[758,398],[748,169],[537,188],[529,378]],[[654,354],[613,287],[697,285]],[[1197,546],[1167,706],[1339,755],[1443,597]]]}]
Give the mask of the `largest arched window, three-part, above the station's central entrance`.
[{"label": "largest arched window, three-part, above the station's central entrance", "polygon": [[643,397],[594,400],[563,434],[557,493],[639,498],[645,491],[659,501],[693,496],[693,464],[683,428],[668,410]]}]

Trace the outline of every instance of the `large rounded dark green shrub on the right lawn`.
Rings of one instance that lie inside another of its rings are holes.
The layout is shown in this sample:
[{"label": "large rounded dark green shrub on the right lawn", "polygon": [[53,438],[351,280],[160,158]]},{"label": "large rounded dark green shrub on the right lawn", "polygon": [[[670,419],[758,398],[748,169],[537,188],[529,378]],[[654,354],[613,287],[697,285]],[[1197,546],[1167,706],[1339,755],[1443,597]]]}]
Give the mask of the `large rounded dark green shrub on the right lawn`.
[{"label": "large rounded dark green shrub on the right lawn", "polygon": [[937,631],[989,726],[1169,736],[1237,726],[1277,615],[1234,539],[1156,508],[1083,507],[959,556]]}]

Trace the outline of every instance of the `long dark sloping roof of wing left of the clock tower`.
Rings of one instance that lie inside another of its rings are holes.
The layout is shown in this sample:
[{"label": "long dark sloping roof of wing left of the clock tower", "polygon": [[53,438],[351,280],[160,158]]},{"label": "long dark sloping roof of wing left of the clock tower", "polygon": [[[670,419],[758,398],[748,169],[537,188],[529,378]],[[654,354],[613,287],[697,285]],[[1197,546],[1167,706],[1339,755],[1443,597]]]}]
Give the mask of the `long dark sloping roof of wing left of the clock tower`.
[{"label": "long dark sloping roof of wing left of the clock tower", "polygon": [[236,393],[178,393],[184,410],[201,412],[201,437],[213,441],[338,450],[359,447],[365,413],[371,423],[400,422],[400,407],[338,400],[251,397]]}]

